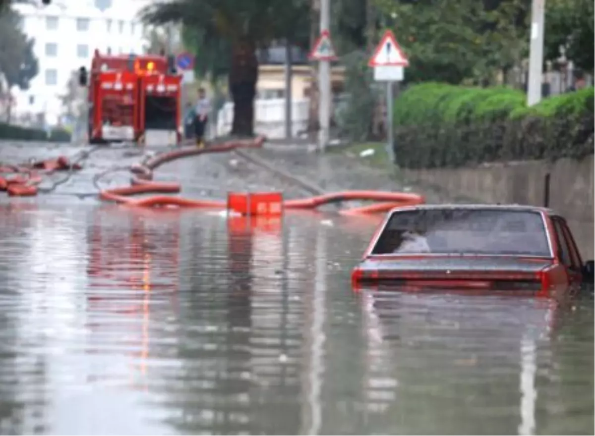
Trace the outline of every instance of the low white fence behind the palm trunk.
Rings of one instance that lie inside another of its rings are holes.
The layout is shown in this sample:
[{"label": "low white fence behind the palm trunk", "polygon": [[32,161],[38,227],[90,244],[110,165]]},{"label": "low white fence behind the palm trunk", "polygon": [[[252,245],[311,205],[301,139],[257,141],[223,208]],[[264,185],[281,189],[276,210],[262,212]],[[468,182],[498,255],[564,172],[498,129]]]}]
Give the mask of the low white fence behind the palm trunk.
[{"label": "low white fence behind the palm trunk", "polygon": [[[292,133],[297,136],[308,125],[309,99],[292,101]],[[223,136],[231,130],[233,120],[233,102],[227,102],[217,116],[217,136]],[[285,99],[257,99],[254,101],[254,130],[271,139],[285,137]]]}]

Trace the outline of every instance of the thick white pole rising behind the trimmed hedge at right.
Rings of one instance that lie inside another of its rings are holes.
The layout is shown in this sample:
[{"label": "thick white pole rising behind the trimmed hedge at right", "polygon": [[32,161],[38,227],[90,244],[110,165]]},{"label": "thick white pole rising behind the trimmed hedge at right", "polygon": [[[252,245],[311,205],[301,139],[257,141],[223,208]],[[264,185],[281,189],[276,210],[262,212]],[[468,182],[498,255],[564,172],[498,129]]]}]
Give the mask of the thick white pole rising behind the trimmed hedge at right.
[{"label": "thick white pole rising behind the trimmed hedge at right", "polygon": [[546,0],[533,0],[531,4],[531,39],[529,41],[529,77],[527,79],[527,106],[541,101],[543,80],[543,33]]}]

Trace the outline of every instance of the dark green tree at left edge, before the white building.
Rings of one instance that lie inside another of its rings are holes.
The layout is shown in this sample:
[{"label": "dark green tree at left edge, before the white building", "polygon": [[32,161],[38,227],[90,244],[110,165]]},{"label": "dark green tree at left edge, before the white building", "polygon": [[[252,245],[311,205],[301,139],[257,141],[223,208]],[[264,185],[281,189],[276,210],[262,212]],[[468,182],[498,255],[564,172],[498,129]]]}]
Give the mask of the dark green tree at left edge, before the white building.
[{"label": "dark green tree at left edge, before the white building", "polygon": [[20,19],[10,8],[0,14],[0,73],[10,86],[27,90],[39,73],[39,65],[33,53],[35,42],[21,31]]}]

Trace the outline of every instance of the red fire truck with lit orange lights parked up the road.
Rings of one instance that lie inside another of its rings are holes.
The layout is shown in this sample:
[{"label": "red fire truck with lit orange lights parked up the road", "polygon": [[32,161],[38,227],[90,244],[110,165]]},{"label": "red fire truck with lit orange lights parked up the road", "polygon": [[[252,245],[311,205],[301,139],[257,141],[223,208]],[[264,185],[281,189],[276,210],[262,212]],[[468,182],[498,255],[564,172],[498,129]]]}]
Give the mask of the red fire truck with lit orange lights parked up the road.
[{"label": "red fire truck with lit orange lights parked up the road", "polygon": [[173,57],[96,50],[79,82],[89,90],[90,143],[181,141],[181,75]]}]

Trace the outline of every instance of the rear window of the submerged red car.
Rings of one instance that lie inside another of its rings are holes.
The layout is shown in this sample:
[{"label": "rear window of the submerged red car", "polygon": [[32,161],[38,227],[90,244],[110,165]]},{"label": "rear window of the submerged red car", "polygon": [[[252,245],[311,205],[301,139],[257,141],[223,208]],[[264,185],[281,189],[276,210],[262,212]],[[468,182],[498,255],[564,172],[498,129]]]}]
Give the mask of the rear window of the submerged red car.
[{"label": "rear window of the submerged red car", "polygon": [[372,250],[389,253],[552,257],[541,214],[512,209],[393,212]]}]

